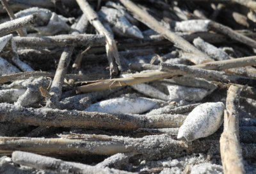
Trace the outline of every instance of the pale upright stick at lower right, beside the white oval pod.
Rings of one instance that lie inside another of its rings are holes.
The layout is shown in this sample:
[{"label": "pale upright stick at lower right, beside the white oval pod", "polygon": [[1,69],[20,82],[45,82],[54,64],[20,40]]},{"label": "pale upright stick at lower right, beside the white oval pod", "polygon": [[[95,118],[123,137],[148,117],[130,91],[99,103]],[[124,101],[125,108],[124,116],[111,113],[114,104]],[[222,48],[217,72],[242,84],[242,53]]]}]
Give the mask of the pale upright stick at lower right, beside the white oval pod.
[{"label": "pale upright stick at lower right, beside the white oval pod", "polygon": [[220,152],[224,173],[245,173],[239,145],[239,94],[241,89],[232,85],[228,89],[224,112],[224,131],[220,138]]}]

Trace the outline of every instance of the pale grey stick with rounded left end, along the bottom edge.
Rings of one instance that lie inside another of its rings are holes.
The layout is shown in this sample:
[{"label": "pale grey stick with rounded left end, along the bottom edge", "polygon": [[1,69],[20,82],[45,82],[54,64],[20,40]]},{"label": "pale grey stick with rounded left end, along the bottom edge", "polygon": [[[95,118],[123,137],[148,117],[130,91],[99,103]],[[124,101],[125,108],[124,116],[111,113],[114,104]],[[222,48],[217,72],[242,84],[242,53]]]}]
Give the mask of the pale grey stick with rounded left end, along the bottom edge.
[{"label": "pale grey stick with rounded left end, along the bottom edge", "polygon": [[15,151],[12,153],[13,163],[29,166],[38,170],[45,170],[54,173],[76,173],[76,174],[96,174],[96,173],[116,173],[129,174],[128,171],[102,168],[100,166],[90,166],[87,164],[62,161],[53,157],[40,156],[29,152]]}]

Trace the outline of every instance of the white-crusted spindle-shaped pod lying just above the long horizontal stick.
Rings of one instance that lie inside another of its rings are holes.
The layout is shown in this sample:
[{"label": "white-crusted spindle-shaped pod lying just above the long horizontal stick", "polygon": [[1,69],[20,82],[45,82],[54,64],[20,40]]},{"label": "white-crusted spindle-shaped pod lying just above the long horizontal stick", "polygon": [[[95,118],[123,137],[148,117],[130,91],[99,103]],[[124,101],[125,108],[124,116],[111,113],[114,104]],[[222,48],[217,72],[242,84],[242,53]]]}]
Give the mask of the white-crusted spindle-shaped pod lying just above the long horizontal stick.
[{"label": "white-crusted spindle-shaped pod lying just above the long horizontal stick", "polygon": [[86,108],[88,112],[143,113],[154,108],[157,101],[148,98],[114,98],[100,101]]}]

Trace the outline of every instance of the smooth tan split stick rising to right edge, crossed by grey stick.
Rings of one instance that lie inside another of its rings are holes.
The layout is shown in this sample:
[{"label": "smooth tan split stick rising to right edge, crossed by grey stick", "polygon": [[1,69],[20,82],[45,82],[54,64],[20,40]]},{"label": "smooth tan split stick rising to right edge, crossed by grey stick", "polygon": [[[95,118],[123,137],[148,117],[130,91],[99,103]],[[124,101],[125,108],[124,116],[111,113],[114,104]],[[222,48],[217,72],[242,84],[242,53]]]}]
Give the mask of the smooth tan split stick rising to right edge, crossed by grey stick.
[{"label": "smooth tan split stick rising to right edge, crossed by grey stick", "polygon": [[[230,59],[225,61],[214,61],[209,62],[209,64],[202,64],[202,65],[195,65],[191,66],[192,68],[205,68],[205,69],[226,69],[226,68],[234,68],[234,67],[240,67],[240,66],[248,66],[255,64],[256,57],[244,57],[240,59]],[[156,66],[152,66],[154,69]],[[217,72],[220,73],[220,72]],[[136,83],[145,83],[150,82],[154,80],[160,80],[163,78],[171,78],[174,75],[178,75],[178,73],[166,73],[161,71],[154,71],[149,73],[141,73],[141,74],[134,74],[131,77],[125,77],[125,78],[113,78],[110,80],[100,80],[100,82],[95,82],[89,85],[83,85],[76,88],[76,92],[94,92],[94,91],[101,91],[104,89],[111,89],[114,87],[120,87],[125,85],[134,85]],[[222,76],[222,74],[220,73]],[[223,77],[220,78],[222,79]],[[238,76],[236,76],[238,77]],[[250,78],[245,78],[246,80],[250,80]],[[233,79],[236,80],[236,79]],[[255,84],[255,83],[254,83]]]}]

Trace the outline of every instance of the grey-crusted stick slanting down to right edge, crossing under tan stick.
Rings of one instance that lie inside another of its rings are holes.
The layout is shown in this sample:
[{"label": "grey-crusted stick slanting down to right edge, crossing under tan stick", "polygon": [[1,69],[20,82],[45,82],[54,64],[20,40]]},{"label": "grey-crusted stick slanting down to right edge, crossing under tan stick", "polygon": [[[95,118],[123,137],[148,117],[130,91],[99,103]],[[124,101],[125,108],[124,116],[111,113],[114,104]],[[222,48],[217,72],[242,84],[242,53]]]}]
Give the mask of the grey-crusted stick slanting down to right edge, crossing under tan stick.
[{"label": "grey-crusted stick slanting down to right edge, crossing under tan stick", "polygon": [[164,64],[161,63],[161,71],[173,73],[173,75],[196,76],[207,80],[231,82],[242,85],[256,86],[256,80],[238,75],[228,75],[224,72],[193,68],[182,64]]}]

